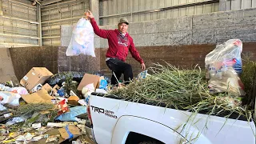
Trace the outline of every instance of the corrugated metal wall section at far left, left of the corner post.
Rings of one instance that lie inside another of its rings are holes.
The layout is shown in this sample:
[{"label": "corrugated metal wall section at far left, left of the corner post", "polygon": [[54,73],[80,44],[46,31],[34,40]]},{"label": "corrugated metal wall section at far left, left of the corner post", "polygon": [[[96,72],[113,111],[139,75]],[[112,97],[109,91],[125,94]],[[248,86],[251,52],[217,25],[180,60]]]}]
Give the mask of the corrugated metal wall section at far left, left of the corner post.
[{"label": "corrugated metal wall section at far left, left of the corner post", "polygon": [[38,46],[37,7],[28,0],[0,1],[0,48]]}]

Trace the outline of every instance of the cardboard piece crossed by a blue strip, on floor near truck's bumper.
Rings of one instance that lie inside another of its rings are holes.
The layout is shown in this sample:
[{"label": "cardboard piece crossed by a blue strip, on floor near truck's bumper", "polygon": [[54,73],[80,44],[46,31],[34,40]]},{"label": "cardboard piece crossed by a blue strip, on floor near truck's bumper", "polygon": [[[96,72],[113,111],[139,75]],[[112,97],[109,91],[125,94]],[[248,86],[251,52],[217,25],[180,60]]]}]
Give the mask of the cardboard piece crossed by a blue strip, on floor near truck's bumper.
[{"label": "cardboard piece crossed by a blue strip, on floor near truck's bumper", "polygon": [[[73,134],[74,137],[78,137],[79,135],[81,135],[80,129],[77,126],[68,125],[67,127],[68,127],[68,130],[70,131],[70,133]],[[64,138],[64,139],[70,138],[70,135],[66,131],[66,128],[58,129],[58,131],[61,134],[62,138]]]}]

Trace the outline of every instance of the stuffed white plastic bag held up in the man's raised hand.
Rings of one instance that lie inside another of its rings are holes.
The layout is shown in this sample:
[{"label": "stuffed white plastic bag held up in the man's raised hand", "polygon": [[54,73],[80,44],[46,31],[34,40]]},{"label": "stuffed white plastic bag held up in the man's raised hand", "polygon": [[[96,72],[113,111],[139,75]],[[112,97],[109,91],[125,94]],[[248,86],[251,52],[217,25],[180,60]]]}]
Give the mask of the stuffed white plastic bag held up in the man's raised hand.
[{"label": "stuffed white plastic bag held up in the man's raised hand", "polygon": [[70,45],[66,50],[66,56],[74,56],[79,54],[91,55],[94,53],[94,28],[91,23],[81,18],[72,31]]}]

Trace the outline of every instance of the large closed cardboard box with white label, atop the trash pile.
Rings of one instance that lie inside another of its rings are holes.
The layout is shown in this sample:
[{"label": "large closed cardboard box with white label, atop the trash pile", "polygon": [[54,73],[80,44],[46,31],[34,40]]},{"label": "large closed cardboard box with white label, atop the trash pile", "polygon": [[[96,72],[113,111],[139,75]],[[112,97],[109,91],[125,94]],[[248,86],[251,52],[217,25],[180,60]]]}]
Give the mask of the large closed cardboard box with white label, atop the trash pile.
[{"label": "large closed cardboard box with white label, atop the trash pile", "polygon": [[39,83],[43,84],[52,74],[45,67],[33,67],[20,81],[27,90],[32,90]]}]

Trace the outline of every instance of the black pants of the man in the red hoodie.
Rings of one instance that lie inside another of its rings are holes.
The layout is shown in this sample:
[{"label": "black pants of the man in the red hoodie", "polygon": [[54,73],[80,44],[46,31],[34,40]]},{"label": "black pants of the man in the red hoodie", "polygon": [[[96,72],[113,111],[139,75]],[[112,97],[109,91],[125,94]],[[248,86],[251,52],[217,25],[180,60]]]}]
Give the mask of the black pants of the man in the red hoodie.
[{"label": "black pants of the man in the red hoodie", "polygon": [[[133,70],[130,64],[122,62],[118,58],[110,58],[106,61],[106,65],[112,70],[112,73],[116,75],[117,78],[112,74],[111,84],[118,84],[119,78],[121,75],[124,75],[125,84],[128,84],[131,79],[133,79]],[[118,79],[118,81],[117,81]]]}]

